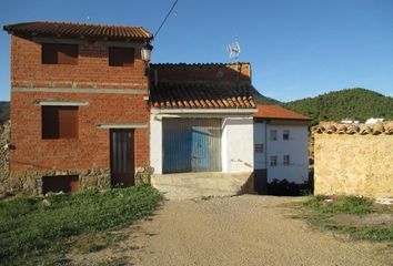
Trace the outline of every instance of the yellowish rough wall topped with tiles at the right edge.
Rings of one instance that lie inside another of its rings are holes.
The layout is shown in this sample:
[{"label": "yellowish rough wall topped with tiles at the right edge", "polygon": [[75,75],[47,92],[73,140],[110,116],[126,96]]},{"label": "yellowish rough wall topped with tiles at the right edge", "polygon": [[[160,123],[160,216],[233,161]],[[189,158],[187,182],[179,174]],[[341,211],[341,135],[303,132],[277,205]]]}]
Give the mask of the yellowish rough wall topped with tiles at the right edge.
[{"label": "yellowish rough wall topped with tiles at the right edge", "polygon": [[[335,127],[335,129],[334,129]],[[314,130],[315,194],[393,197],[393,135],[390,127],[367,131]]]}]

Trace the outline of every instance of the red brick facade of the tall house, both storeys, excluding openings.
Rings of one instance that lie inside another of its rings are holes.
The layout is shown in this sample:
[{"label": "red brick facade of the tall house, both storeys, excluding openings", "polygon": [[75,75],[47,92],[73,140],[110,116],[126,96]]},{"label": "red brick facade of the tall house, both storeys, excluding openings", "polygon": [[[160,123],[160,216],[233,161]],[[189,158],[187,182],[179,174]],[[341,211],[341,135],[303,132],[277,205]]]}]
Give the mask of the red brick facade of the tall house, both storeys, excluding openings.
[{"label": "red brick facade of the tall house, both storeys, excluding openings", "polygon": [[[12,35],[11,86],[148,89],[145,65],[135,49],[134,66],[109,66],[108,48],[80,45],[78,65],[41,64],[41,44]],[[53,89],[56,90],[56,89]],[[109,130],[98,123],[149,125],[143,94],[11,92],[12,172],[110,166]],[[42,140],[41,106],[34,100],[88,101],[79,108],[78,140]],[[135,130],[135,166],[149,164],[149,129]]]}]

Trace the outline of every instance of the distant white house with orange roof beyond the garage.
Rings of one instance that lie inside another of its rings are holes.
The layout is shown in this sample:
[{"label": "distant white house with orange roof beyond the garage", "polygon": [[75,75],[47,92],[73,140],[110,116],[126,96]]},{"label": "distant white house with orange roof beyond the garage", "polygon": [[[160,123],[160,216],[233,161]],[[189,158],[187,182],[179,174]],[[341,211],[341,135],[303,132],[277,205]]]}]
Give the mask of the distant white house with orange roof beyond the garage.
[{"label": "distant white house with orange roof beyond the garage", "polygon": [[310,117],[279,105],[258,105],[254,114],[254,188],[288,180],[303,183],[309,176],[308,125]]}]

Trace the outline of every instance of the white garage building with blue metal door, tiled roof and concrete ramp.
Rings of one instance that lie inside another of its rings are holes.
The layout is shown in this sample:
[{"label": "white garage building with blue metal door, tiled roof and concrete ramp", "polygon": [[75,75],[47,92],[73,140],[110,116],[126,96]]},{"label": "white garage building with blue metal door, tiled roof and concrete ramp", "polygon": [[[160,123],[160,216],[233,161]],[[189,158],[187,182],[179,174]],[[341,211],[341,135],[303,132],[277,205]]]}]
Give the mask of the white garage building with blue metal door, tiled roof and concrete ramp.
[{"label": "white garage building with blue metal door, tiled roof and concrete ramp", "polygon": [[152,64],[151,71],[153,186],[172,198],[252,190],[251,65]]}]

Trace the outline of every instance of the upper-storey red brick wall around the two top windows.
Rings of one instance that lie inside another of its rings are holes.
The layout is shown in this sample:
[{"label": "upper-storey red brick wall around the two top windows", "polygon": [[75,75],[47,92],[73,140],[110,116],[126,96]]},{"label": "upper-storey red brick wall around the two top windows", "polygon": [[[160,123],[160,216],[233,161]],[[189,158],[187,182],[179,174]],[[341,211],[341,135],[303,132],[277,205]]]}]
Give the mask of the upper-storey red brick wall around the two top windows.
[{"label": "upper-storey red brick wall around the two top windows", "polygon": [[80,44],[78,65],[41,64],[41,44],[11,37],[11,85],[71,88],[134,88],[148,86],[145,64],[135,49],[134,66],[109,66],[108,48],[95,43]]}]

